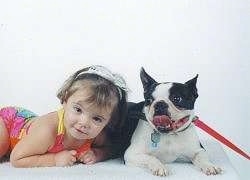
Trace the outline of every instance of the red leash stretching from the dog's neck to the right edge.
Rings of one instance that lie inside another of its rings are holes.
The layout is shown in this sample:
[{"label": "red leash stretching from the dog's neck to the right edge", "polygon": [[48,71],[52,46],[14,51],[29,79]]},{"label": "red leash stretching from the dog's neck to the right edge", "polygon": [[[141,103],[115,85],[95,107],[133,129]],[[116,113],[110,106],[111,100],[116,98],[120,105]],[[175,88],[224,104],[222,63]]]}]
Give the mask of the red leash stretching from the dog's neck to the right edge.
[{"label": "red leash stretching from the dog's neck to the right edge", "polygon": [[240,155],[242,155],[245,158],[247,158],[248,160],[250,160],[250,156],[247,153],[245,153],[244,151],[242,151],[240,148],[238,148],[236,145],[234,145],[233,143],[231,143],[229,140],[227,140],[225,137],[223,137],[222,135],[220,135],[218,132],[216,132],[215,130],[213,130],[212,128],[210,128],[208,125],[206,125],[204,122],[202,122],[197,116],[193,120],[193,123],[195,124],[195,126],[199,127],[200,129],[202,129],[203,131],[205,131],[209,135],[213,136],[218,141],[222,142],[223,144],[225,144],[226,146],[230,147],[235,152],[239,153]]}]

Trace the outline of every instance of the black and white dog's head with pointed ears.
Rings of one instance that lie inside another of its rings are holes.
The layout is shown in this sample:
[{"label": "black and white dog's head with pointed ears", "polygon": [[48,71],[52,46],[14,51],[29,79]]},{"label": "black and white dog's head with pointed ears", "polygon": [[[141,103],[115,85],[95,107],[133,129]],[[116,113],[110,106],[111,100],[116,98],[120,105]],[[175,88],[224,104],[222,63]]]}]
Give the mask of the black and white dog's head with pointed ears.
[{"label": "black and white dog's head with pointed ears", "polygon": [[144,89],[144,113],[149,123],[161,133],[174,132],[185,124],[185,119],[193,114],[198,97],[198,75],[184,84],[158,83],[142,68],[140,77]]}]

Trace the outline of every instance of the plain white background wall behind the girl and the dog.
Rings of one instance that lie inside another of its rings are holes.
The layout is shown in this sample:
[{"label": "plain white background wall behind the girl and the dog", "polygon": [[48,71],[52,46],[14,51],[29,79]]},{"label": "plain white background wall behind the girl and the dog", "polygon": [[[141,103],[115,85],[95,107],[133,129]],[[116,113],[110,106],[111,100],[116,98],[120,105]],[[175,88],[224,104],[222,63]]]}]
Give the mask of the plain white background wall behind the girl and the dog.
[{"label": "plain white background wall behind the girl and the dog", "polygon": [[[65,78],[90,64],[124,75],[132,101],[141,66],[159,81],[198,73],[197,114],[249,152],[249,19],[247,0],[1,1],[0,105],[53,111]],[[225,151],[247,179],[249,161]]]}]

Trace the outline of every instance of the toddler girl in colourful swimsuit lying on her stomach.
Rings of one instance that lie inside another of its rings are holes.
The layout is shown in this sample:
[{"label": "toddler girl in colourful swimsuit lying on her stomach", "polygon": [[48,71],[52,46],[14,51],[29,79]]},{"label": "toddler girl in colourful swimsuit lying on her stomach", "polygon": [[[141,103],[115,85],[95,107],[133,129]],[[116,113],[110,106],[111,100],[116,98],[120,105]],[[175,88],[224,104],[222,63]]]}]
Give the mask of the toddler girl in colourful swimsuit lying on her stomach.
[{"label": "toddler girl in colourful swimsuit lying on her stomach", "polygon": [[[103,66],[90,66],[65,81],[62,108],[43,116],[18,107],[0,109],[0,158],[15,167],[92,164],[112,156],[107,136],[125,118],[124,79]],[[112,134],[112,133],[111,133]]]}]

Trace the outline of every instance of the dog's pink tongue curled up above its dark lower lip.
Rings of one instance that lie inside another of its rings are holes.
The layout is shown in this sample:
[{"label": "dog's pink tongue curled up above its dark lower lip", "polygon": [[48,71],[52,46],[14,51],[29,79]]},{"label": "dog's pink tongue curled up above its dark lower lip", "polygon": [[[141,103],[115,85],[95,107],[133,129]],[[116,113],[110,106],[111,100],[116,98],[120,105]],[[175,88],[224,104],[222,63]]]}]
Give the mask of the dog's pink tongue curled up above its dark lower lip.
[{"label": "dog's pink tongue curled up above its dark lower lip", "polygon": [[173,130],[173,121],[167,115],[157,115],[153,118],[153,124],[160,132],[169,132]]}]

